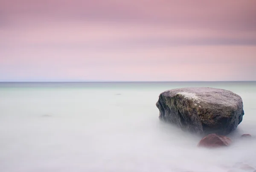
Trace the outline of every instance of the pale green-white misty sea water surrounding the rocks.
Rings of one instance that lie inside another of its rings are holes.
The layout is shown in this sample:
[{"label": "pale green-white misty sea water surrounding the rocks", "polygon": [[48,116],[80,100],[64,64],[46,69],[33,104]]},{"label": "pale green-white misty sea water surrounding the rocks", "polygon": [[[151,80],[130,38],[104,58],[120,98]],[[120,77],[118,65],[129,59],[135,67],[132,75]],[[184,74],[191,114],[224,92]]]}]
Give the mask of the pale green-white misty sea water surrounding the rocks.
[{"label": "pale green-white misty sea water surrounding the rocks", "polygon": [[[159,94],[188,86],[242,97],[230,147],[198,148],[201,137],[159,121]],[[0,172],[227,172],[256,168],[254,137],[256,82],[0,83]]]}]

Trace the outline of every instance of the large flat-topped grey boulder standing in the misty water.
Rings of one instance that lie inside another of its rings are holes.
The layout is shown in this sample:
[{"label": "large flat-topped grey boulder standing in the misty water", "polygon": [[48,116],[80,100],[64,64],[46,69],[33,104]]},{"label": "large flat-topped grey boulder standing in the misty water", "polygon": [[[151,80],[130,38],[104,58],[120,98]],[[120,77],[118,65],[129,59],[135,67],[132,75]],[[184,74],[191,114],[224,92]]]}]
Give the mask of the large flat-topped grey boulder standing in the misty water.
[{"label": "large flat-topped grey boulder standing in the misty water", "polygon": [[160,120],[200,134],[227,135],[236,129],[244,115],[239,95],[209,87],[162,92],[156,106]]}]

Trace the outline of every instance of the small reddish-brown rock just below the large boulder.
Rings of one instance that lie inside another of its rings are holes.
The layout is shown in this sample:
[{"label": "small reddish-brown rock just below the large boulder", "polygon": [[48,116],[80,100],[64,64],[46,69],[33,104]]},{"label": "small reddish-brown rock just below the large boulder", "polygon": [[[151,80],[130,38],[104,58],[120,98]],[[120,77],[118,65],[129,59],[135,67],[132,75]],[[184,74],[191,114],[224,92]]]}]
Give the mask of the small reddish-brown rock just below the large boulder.
[{"label": "small reddish-brown rock just below the large boulder", "polygon": [[229,146],[232,140],[226,136],[219,136],[216,134],[209,134],[202,138],[198,143],[199,147],[221,147]]}]

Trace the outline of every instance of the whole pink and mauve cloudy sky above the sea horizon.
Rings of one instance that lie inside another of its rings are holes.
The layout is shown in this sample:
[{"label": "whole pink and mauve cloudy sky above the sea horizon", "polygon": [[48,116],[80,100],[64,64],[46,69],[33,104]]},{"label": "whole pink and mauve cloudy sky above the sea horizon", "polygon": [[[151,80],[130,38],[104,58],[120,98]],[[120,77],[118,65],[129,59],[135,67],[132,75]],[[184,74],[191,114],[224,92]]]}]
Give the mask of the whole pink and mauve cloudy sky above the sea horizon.
[{"label": "whole pink and mauve cloudy sky above the sea horizon", "polygon": [[255,0],[0,0],[0,81],[256,80]]}]

